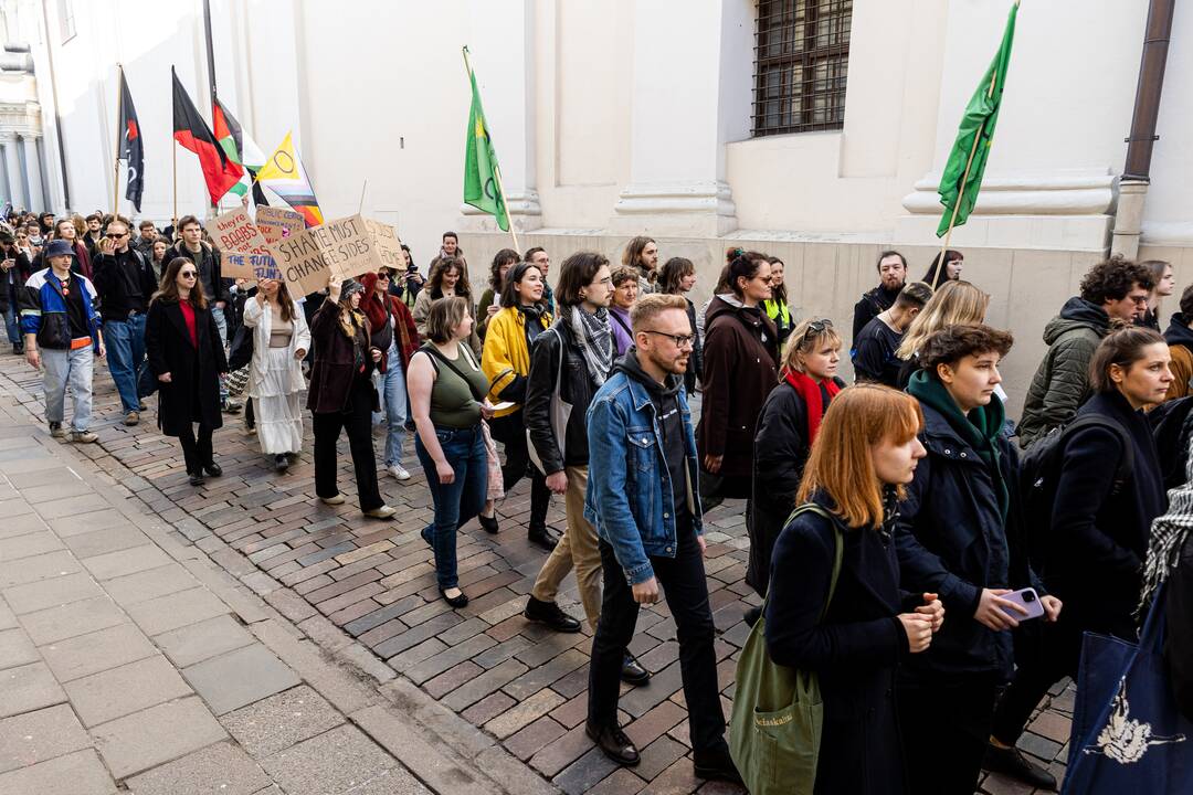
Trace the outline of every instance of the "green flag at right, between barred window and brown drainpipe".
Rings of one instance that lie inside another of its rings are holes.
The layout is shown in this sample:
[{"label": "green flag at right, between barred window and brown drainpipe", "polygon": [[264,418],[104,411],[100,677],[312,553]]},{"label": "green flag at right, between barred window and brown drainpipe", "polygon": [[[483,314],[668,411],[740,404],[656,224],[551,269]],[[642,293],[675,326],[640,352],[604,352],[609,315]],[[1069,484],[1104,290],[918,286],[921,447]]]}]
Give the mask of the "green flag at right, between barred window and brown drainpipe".
[{"label": "green flag at right, between barred window and brown drainpipe", "polygon": [[1002,44],[981,85],[970,98],[969,105],[965,106],[965,116],[962,117],[953,151],[948,155],[948,162],[945,163],[945,172],[940,178],[940,204],[945,206],[945,212],[940,217],[937,237],[945,235],[950,224],[953,226],[964,224],[973,211],[973,205],[977,204],[985,161],[990,156],[994,125],[999,122],[999,106],[1002,104],[1002,89],[1007,82],[1007,67],[1010,66],[1010,43],[1015,38],[1018,12],[1019,0],[1015,0],[1007,18],[1007,30],[1002,33]]}]

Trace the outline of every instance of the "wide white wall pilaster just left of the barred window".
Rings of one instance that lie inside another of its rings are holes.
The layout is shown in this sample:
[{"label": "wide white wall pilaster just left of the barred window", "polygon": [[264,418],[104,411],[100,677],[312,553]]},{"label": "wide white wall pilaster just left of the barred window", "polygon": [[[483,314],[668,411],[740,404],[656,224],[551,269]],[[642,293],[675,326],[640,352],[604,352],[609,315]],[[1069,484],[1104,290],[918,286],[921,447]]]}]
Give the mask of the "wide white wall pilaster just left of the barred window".
[{"label": "wide white wall pilaster just left of the barred window", "polygon": [[749,135],[749,73],[740,67],[753,57],[750,5],[633,5],[630,184],[613,230],[717,237],[737,228],[725,144]]}]

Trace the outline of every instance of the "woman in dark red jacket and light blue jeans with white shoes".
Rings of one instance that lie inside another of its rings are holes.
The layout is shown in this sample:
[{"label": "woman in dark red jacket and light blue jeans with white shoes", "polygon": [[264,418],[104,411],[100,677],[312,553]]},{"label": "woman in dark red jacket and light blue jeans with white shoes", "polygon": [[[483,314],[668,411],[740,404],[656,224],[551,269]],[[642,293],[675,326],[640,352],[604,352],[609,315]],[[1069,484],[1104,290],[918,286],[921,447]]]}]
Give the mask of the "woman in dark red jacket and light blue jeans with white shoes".
[{"label": "woman in dark red jacket and light blue jeans with white shoes", "polygon": [[[406,304],[389,293],[394,272],[382,268],[360,278],[365,299],[360,309],[369,318],[372,347],[382,352],[377,362],[379,383],[377,391],[385,411],[389,431],[385,435],[385,471],[397,480],[409,480],[410,473],[402,466],[402,445],[406,442],[406,421],[409,418],[409,400],[406,395],[406,371],[410,356],[419,348],[419,331],[414,317]],[[373,415],[377,421],[379,415]]]}]

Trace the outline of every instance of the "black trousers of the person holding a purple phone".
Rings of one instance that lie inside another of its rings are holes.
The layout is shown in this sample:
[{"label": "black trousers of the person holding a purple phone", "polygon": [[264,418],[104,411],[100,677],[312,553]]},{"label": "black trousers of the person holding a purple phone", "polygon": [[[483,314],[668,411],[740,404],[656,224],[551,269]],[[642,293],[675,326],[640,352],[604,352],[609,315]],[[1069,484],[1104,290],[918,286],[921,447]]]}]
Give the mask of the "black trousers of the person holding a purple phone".
[{"label": "black trousers of the person holding a purple phone", "polygon": [[990,739],[999,678],[975,673],[898,688],[900,727],[908,791],[972,795]]}]

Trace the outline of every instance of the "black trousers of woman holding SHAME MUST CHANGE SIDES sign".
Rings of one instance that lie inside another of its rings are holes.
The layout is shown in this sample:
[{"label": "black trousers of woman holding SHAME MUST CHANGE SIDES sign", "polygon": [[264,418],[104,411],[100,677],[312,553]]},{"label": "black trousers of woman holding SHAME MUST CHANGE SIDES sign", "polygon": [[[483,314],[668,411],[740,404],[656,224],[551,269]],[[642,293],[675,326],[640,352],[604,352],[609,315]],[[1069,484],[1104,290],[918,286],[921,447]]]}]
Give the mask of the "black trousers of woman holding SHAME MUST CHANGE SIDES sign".
[{"label": "black trousers of woman holding SHAME MUST CHANGE SIDES sign", "polygon": [[381,508],[385,502],[377,489],[377,459],[372,448],[372,385],[361,378],[352,383],[348,403],[344,411],[319,412],[313,417],[315,429],[315,493],[334,497],[340,493],[335,485],[338,455],[335,445],[340,430],[348,434],[352,451],[352,468],[357,472],[357,495],[360,510]]}]

